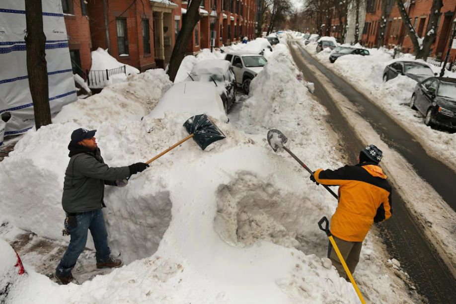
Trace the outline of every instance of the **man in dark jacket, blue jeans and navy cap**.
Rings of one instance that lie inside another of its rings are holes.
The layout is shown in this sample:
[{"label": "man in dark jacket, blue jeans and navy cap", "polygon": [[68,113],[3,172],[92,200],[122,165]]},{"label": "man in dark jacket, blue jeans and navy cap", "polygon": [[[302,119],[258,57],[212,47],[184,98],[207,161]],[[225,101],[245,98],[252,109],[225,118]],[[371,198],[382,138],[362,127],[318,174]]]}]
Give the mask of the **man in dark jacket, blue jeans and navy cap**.
[{"label": "man in dark jacket, blue jeans and navy cap", "polygon": [[72,269],[87,242],[90,229],[96,250],[96,267],[120,267],[122,261],[111,257],[108,233],[102,207],[104,185],[124,186],[126,178],[144,171],[149,165],[137,162],[125,167],[111,168],[104,163],[95,141],[96,130],[77,129],[68,145],[70,162],[65,172],[62,206],[67,214],[64,235],[71,240],[62,260],[56,268],[56,277],[62,284],[73,281]]}]

